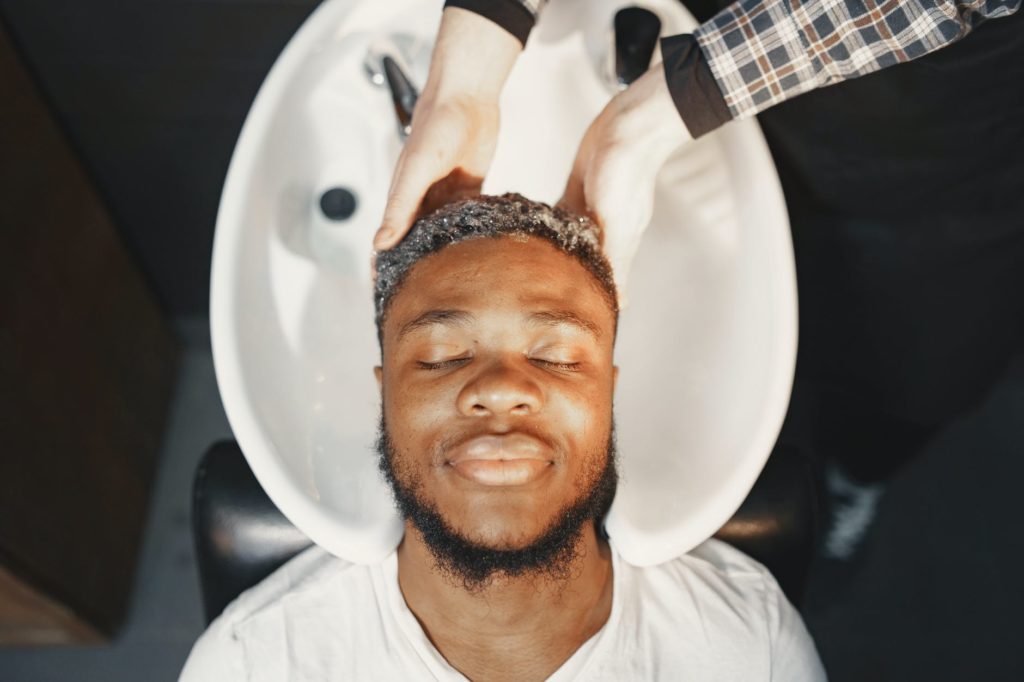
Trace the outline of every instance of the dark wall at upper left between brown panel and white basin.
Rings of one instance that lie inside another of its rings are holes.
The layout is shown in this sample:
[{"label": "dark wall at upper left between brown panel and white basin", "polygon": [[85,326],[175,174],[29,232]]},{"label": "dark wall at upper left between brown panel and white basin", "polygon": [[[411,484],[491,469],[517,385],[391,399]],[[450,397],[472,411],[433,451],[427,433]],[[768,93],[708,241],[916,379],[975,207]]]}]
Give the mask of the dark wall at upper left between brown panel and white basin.
[{"label": "dark wall at upper left between brown panel and white basin", "polygon": [[0,0],[0,19],[169,315],[208,312],[234,140],[266,72],[317,4]]}]

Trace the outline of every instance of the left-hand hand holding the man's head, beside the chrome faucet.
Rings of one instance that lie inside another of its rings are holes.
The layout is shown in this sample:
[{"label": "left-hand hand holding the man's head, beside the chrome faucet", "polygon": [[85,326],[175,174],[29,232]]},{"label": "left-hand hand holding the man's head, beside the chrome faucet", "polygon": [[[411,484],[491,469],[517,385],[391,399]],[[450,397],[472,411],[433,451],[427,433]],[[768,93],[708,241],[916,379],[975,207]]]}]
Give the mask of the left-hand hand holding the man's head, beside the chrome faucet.
[{"label": "left-hand hand holding the man's head, beside the chrome faucet", "polygon": [[489,19],[458,7],[444,10],[376,250],[400,242],[421,213],[479,194],[498,140],[498,97],[521,50]]}]

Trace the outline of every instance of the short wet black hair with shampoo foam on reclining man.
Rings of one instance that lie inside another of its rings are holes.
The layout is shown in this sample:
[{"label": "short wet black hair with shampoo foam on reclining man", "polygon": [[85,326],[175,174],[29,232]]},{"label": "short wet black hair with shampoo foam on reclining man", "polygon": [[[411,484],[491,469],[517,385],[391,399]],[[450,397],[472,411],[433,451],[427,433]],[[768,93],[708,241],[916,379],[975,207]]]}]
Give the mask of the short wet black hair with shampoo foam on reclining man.
[{"label": "short wet black hair with shampoo foam on reclining man", "polygon": [[377,254],[374,306],[381,346],[388,306],[416,263],[467,240],[516,236],[545,239],[575,258],[594,276],[617,319],[618,297],[611,265],[601,251],[600,228],[592,220],[521,195],[481,195],[420,218],[394,248]]}]

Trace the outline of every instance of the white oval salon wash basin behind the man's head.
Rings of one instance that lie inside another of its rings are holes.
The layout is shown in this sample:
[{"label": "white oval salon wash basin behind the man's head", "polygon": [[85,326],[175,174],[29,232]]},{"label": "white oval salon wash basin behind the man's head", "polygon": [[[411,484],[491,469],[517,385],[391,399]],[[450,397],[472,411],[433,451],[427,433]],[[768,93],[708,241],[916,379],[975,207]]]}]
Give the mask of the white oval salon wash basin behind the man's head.
[{"label": "white oval salon wash basin behind the man's head", "polygon": [[[551,3],[510,76],[484,190],[558,199],[627,3]],[[664,34],[692,17],[650,2]],[[239,138],[214,243],[211,328],[227,417],[256,477],[314,542],[356,562],[402,525],[377,473],[379,364],[371,243],[400,151],[371,46],[398,37],[422,86],[439,5],[327,0],[267,76]],[[655,55],[655,59],[657,59]],[[346,220],[321,194],[354,196]],[[785,206],[754,121],[674,155],[631,269],[616,346],[623,480],[606,527],[622,556],[657,563],[732,515],[772,449],[796,356]]]}]

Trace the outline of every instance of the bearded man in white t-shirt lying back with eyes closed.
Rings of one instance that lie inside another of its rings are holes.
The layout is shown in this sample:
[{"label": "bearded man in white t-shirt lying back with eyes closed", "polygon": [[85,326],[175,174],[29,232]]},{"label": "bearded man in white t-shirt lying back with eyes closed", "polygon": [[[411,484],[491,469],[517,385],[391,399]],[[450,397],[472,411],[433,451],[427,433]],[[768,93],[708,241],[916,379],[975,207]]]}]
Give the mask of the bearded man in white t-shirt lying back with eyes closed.
[{"label": "bearded man in white t-shirt lying back with eyes closed", "polygon": [[404,538],[377,565],[299,555],[214,622],[184,682],[824,679],[757,562],[708,541],[639,568],[604,536],[618,310],[589,220],[468,200],[377,271]]}]

